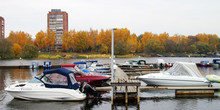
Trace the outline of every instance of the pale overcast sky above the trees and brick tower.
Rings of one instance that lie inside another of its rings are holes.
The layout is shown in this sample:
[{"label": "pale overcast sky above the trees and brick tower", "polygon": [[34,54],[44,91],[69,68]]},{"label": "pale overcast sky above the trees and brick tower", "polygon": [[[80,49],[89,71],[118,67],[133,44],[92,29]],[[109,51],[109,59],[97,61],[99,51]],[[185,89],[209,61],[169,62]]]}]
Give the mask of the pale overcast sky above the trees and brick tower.
[{"label": "pale overcast sky above the trees and brick tower", "polygon": [[220,0],[0,0],[0,16],[10,31],[35,35],[47,29],[47,13],[61,9],[69,16],[69,30],[128,28],[169,35],[217,34]]}]

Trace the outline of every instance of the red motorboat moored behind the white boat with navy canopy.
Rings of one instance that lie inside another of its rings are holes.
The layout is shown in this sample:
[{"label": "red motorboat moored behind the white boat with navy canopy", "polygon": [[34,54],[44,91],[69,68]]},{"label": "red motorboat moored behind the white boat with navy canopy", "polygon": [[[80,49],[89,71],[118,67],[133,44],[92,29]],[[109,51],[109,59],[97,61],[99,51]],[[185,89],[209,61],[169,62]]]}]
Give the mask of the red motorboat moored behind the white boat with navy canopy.
[{"label": "red motorboat moored behind the white boat with navy canopy", "polygon": [[67,68],[74,72],[75,78],[79,82],[87,82],[91,86],[100,86],[108,81],[110,77],[97,74],[89,74],[81,71],[75,64],[65,64],[61,67]]}]

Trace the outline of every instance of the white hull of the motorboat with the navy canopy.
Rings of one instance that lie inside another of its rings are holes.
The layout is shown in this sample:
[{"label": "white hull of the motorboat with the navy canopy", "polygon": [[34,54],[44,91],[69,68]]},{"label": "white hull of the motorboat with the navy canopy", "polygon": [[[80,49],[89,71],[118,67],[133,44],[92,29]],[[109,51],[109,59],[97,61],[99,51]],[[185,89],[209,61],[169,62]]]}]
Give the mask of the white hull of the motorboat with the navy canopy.
[{"label": "white hull of the motorboat with the navy canopy", "polygon": [[5,89],[14,98],[24,100],[47,100],[47,101],[80,101],[86,98],[86,95],[79,90],[62,88],[45,88],[31,86],[15,87],[9,86]]}]

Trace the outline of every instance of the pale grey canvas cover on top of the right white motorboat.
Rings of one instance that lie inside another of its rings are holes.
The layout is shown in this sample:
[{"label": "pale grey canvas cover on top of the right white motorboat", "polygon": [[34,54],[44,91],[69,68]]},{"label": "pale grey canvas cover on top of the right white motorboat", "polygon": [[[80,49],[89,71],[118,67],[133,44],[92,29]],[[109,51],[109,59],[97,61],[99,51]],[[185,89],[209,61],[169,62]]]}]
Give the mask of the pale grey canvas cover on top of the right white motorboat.
[{"label": "pale grey canvas cover on top of the right white motorboat", "polygon": [[199,72],[196,64],[188,62],[176,62],[173,67],[171,67],[164,73],[175,76],[203,77]]}]

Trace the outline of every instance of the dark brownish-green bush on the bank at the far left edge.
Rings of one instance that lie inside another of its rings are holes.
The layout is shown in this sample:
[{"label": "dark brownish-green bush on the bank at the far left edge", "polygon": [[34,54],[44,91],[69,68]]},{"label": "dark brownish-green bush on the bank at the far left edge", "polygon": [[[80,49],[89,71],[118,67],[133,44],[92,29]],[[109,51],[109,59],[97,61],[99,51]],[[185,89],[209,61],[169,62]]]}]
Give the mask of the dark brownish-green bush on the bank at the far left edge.
[{"label": "dark brownish-green bush on the bank at the far left edge", "polygon": [[4,38],[0,38],[0,59],[13,58],[12,43]]}]

